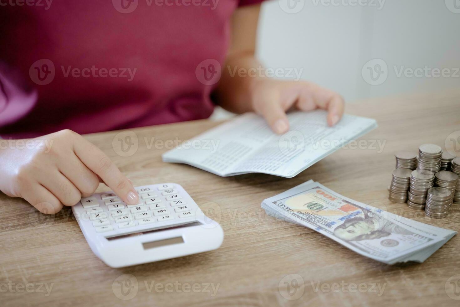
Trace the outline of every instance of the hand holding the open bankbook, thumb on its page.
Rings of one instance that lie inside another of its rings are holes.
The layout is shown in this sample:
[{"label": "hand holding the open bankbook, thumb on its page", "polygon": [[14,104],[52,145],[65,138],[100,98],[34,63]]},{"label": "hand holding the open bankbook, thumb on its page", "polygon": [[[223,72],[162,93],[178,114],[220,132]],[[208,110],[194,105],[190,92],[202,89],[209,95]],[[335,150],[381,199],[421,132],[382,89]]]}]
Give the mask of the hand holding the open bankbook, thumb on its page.
[{"label": "hand holding the open bankbook, thumb on its page", "polygon": [[307,81],[262,78],[254,82],[251,93],[253,110],[278,134],[289,130],[286,111],[291,108],[328,110],[329,126],[339,122],[344,112],[344,99],[339,94]]}]

